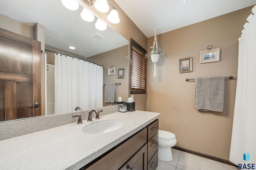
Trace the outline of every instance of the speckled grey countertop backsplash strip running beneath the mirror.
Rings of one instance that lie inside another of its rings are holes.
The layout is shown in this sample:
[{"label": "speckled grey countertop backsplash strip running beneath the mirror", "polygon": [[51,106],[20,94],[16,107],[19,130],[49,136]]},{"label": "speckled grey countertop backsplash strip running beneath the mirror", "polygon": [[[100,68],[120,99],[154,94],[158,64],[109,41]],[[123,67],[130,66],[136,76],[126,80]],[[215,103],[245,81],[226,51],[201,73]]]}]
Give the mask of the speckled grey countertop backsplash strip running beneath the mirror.
[{"label": "speckled grey countertop backsplash strip running beneath the mirror", "polygon": [[[111,113],[118,112],[118,106],[107,106],[96,108],[101,115],[108,115]],[[82,111],[73,111],[64,114],[54,114],[47,116],[38,116],[26,119],[19,119],[15,121],[6,121],[0,123],[0,141],[34,133],[78,121],[78,117],[72,117],[72,115],[82,115],[82,121],[87,121],[89,111],[92,109],[85,109]],[[92,114],[92,118],[95,118],[96,114]]]}]

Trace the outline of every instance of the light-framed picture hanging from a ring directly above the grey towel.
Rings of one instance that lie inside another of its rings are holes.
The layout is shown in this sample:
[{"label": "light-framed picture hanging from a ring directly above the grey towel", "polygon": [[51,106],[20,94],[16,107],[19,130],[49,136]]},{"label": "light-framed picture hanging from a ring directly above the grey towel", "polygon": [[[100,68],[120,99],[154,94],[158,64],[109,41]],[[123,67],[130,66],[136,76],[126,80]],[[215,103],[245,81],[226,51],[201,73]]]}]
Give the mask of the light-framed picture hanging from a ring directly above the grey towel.
[{"label": "light-framed picture hanging from a ring directly above the grey towel", "polygon": [[200,63],[220,61],[220,48],[200,51]]}]

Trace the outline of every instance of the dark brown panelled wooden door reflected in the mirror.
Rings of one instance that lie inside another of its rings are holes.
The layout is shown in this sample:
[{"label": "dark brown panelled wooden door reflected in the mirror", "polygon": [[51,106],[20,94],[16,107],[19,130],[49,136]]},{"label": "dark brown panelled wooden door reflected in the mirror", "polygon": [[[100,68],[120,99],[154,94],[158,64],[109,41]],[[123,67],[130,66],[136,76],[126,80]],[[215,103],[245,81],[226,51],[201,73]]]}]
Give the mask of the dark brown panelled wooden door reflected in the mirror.
[{"label": "dark brown panelled wooden door reflected in the mirror", "polygon": [[0,29],[0,121],[41,115],[40,51],[39,41]]}]

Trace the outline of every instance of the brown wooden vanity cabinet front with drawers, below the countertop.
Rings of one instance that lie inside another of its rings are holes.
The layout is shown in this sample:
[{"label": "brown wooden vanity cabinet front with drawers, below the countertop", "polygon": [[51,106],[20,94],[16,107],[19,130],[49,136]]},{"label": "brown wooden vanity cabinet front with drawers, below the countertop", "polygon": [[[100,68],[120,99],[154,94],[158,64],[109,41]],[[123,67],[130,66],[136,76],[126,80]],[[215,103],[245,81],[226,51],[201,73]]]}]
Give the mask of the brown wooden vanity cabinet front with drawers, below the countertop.
[{"label": "brown wooden vanity cabinet front with drawers, below the countertop", "polygon": [[80,170],[155,170],[157,165],[158,119]]}]

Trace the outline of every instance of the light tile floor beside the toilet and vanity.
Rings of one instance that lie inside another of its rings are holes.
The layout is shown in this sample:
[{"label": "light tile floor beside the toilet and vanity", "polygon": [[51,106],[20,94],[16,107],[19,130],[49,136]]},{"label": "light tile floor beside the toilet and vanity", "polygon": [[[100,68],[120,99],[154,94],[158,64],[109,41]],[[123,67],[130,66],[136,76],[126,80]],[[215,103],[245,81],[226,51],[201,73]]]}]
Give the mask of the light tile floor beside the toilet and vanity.
[{"label": "light tile floor beside the toilet and vanity", "polygon": [[176,149],[172,149],[172,157],[169,162],[158,160],[156,170],[238,170],[235,166]]}]

